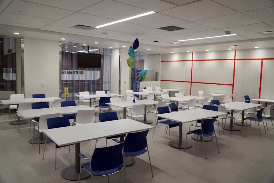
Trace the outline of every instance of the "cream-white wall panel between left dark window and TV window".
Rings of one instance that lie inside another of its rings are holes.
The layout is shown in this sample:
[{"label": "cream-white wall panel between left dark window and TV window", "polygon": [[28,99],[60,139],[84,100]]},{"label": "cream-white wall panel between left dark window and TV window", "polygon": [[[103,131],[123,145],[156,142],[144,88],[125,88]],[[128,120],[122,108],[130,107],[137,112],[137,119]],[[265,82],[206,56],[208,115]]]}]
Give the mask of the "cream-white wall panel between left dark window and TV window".
[{"label": "cream-white wall panel between left dark window and TV window", "polygon": [[25,98],[41,93],[59,97],[59,42],[25,37],[24,72]]}]

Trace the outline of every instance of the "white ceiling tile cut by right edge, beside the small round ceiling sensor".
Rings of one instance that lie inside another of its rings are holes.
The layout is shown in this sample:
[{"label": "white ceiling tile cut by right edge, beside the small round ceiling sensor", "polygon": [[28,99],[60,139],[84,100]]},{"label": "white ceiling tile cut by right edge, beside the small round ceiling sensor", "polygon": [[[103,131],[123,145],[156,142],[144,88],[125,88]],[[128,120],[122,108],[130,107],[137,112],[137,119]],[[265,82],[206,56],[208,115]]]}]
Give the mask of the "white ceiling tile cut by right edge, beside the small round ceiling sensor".
[{"label": "white ceiling tile cut by right edge, beside the small round ceiling sensor", "polygon": [[221,30],[231,31],[232,34],[260,33],[274,30],[274,28],[265,23],[256,23],[251,25],[242,25],[237,27],[223,28]]}]

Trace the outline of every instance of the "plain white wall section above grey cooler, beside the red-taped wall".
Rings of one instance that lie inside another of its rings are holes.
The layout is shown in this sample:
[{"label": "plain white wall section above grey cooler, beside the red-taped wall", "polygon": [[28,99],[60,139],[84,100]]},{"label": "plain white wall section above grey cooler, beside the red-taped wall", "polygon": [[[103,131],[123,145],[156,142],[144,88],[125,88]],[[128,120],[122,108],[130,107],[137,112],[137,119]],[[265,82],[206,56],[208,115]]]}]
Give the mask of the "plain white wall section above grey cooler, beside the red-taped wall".
[{"label": "plain white wall section above grey cooler, beside the red-taped wall", "polygon": [[145,55],[145,66],[146,70],[156,71],[156,81],[160,81],[160,71],[161,71],[161,55]]}]

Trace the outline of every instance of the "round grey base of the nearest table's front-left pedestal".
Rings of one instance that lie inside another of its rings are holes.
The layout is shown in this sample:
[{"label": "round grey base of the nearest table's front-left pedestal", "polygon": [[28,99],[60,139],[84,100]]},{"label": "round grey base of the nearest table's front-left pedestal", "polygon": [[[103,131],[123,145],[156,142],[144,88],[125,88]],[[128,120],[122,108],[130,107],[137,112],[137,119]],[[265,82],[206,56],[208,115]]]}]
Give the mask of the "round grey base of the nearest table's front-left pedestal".
[{"label": "round grey base of the nearest table's front-left pedestal", "polygon": [[[75,166],[73,165],[62,170],[61,177],[66,180],[79,180],[79,173],[75,172]],[[82,168],[80,179],[82,180],[88,177],[90,177],[89,172],[85,168]]]}]

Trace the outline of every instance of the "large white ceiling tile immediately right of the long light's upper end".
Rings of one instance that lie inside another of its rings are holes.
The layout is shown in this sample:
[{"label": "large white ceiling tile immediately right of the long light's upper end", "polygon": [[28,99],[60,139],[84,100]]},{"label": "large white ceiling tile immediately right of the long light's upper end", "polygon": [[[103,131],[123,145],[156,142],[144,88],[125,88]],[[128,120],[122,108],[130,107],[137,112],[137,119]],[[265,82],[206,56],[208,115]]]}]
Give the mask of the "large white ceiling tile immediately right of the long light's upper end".
[{"label": "large white ceiling tile immediately right of the long light's upper end", "polygon": [[203,0],[184,6],[171,8],[169,10],[160,11],[160,13],[193,22],[207,18],[230,15],[237,13],[237,11],[210,0]]}]

